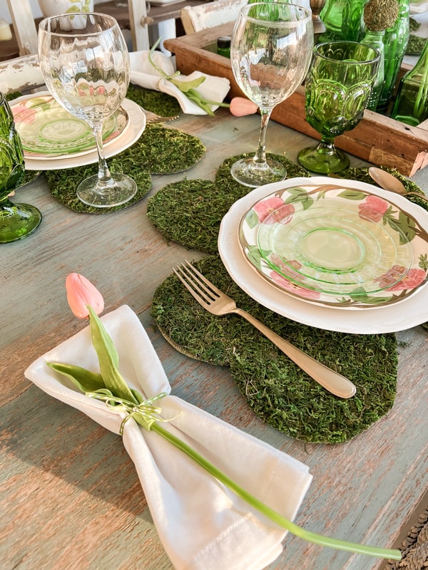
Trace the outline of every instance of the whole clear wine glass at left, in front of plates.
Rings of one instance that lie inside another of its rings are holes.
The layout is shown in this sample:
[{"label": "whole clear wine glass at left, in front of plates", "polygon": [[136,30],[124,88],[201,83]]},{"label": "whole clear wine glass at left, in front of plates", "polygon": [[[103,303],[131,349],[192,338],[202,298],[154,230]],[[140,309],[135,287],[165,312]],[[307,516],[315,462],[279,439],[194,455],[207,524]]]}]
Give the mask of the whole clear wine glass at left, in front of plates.
[{"label": "whole clear wine glass at left, in front of plates", "polygon": [[78,185],[78,198],[99,208],[128,202],[136,194],[136,182],[108,170],[102,138],[103,121],[120,107],[129,84],[129,54],[117,21],[88,12],[42,20],[39,62],[51,94],[86,120],[96,140],[98,175]]}]

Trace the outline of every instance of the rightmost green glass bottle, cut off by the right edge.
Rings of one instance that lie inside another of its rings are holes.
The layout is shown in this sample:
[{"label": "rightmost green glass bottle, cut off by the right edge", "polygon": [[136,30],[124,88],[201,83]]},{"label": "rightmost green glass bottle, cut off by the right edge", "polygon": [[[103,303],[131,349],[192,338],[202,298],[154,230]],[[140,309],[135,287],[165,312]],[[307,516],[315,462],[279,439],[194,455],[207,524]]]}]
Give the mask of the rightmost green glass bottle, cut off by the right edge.
[{"label": "rightmost green glass bottle, cut off by the right edge", "polygon": [[428,41],[414,68],[399,82],[391,116],[413,127],[428,117]]}]

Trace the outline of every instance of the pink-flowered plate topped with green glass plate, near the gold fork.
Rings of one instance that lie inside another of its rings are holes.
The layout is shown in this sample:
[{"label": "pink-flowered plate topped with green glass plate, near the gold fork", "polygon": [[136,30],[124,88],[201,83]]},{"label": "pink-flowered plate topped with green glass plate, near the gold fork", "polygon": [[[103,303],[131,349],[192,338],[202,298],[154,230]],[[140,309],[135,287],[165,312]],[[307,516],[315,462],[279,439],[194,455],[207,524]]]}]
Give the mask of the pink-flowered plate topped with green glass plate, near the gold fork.
[{"label": "pink-flowered plate topped with green glass plate, near the gold fork", "polygon": [[427,283],[427,232],[364,190],[308,182],[274,192],[245,213],[239,241],[265,279],[312,303],[382,306]]}]

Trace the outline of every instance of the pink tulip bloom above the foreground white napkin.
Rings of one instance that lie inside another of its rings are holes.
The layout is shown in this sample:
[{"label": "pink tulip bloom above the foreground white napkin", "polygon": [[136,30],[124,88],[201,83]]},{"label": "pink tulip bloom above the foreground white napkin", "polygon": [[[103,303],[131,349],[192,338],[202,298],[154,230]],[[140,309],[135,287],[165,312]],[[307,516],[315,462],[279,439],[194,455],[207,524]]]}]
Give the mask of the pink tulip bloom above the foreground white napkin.
[{"label": "pink tulip bloom above the foreground white napkin", "polygon": [[86,318],[89,316],[88,305],[101,314],[104,310],[104,299],[91,281],[78,273],[70,273],[66,276],[66,291],[68,305],[74,316]]}]

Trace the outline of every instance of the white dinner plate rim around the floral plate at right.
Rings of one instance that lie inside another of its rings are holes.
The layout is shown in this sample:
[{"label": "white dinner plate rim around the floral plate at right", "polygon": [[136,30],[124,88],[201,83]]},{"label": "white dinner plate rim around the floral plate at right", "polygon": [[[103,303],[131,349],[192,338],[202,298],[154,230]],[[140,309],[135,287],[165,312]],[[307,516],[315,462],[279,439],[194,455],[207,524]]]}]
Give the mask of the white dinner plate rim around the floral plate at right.
[{"label": "white dinner plate rim around the floral plate at right", "polygon": [[[310,180],[319,185],[332,182],[331,178],[327,177],[312,177]],[[330,331],[360,334],[390,333],[427,322],[428,286],[422,287],[417,294],[409,296],[398,304],[374,307],[369,311],[364,308],[347,311],[310,304],[292,297],[270,284],[253,269],[240,247],[238,229],[241,219],[259,199],[283,188],[303,185],[305,182],[307,184],[307,181],[307,178],[301,177],[258,187],[235,202],[225,214],[220,224],[218,250],[232,279],[245,293],[267,309],[297,322]],[[384,197],[389,202],[397,204],[398,207],[409,212],[417,219],[419,225],[428,231],[428,212],[412,204],[406,198],[365,182],[346,180],[343,183],[347,187],[365,190],[365,192]]]}]

